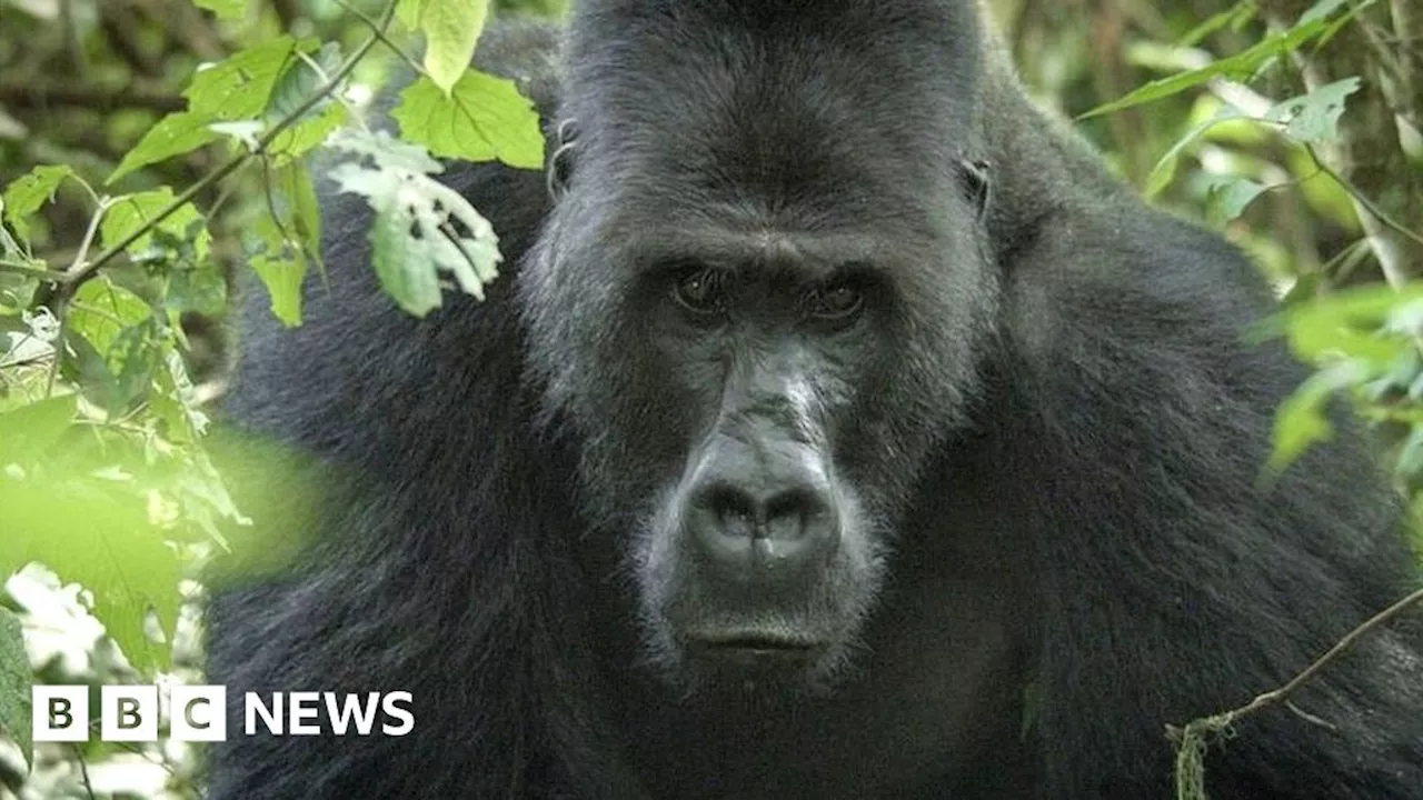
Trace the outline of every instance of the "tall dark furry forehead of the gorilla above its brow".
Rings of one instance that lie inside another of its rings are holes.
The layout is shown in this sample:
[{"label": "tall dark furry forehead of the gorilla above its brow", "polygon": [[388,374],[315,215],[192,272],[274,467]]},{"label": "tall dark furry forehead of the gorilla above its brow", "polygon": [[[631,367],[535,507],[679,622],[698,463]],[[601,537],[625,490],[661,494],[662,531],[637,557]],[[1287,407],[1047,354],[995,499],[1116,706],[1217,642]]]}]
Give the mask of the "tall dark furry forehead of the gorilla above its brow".
[{"label": "tall dark furry forehead of the gorilla above its brow", "polygon": [[805,9],[757,30],[653,14],[596,47],[575,43],[564,111],[591,134],[581,168],[606,161],[613,181],[807,214],[933,198],[970,148],[976,53],[942,24],[906,43],[891,20],[895,37],[878,37],[894,13],[871,6],[851,9],[859,27]]}]

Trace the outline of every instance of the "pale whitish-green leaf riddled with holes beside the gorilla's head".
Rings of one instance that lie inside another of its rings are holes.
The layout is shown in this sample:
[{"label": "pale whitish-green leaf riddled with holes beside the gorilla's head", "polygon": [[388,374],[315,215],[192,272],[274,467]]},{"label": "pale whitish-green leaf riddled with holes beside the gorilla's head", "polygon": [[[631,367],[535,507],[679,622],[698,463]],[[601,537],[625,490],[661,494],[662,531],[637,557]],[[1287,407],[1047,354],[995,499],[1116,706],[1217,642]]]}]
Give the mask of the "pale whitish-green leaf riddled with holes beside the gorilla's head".
[{"label": "pale whitish-green leaf riddled with holes beside the gorilla's head", "polygon": [[[371,162],[339,164],[330,177],[340,191],[366,196],[376,211],[371,258],[396,303],[414,316],[440,306],[441,270],[482,300],[484,285],[498,276],[498,236],[468,201],[427,174],[443,167],[384,131],[342,131],[333,145]],[[420,169],[410,169],[411,164]]]}]

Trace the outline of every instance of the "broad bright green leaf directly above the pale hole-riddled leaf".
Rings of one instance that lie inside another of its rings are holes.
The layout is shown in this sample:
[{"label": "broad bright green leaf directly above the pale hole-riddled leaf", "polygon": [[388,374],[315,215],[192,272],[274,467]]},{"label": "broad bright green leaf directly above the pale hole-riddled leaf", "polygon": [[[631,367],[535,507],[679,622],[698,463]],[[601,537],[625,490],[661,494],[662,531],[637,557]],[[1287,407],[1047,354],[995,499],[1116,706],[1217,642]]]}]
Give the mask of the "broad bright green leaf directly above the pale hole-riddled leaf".
[{"label": "broad bright green leaf directly above the pale hole-riddled leaf", "polygon": [[499,159],[521,169],[544,168],[544,134],[534,104],[514,81],[468,70],[445,95],[428,78],[400,93],[391,112],[404,140],[443,158]]}]

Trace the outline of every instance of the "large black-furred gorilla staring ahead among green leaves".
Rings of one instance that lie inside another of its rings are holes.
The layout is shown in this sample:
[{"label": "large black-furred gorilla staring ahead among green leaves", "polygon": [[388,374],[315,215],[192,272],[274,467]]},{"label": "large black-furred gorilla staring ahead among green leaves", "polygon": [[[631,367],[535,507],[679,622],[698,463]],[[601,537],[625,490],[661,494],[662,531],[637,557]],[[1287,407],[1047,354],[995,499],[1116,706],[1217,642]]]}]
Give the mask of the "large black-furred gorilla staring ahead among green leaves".
[{"label": "large black-furred gorilla staring ahead among green leaves", "polygon": [[[211,680],[407,690],[414,729],[236,732],[211,796],[1165,799],[1165,726],[1416,586],[1346,420],[1261,480],[1306,373],[1247,344],[1251,265],[985,28],[583,0],[488,31],[556,154],[445,175],[505,275],[410,319],[333,195],[330,286],[295,332],[248,307],[226,406],[310,458],[253,510],[310,541],[216,594]],[[1212,799],[1423,797],[1416,619],[1292,706],[1211,747]]]}]

